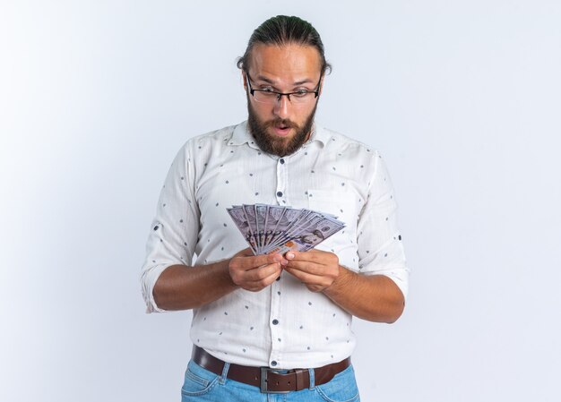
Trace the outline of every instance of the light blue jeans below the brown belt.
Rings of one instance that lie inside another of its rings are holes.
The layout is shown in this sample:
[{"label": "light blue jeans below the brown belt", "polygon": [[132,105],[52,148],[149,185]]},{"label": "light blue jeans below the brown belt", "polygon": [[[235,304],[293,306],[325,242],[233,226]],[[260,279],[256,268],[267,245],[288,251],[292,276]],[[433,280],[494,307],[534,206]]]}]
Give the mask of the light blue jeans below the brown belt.
[{"label": "light blue jeans below the brown belt", "polygon": [[286,394],[264,394],[257,387],[228,379],[229,364],[222,375],[203,369],[193,361],[187,365],[185,381],[181,388],[181,401],[207,402],[358,402],[357,381],[352,365],[323,385],[314,384],[314,371],[310,371],[310,388]]}]

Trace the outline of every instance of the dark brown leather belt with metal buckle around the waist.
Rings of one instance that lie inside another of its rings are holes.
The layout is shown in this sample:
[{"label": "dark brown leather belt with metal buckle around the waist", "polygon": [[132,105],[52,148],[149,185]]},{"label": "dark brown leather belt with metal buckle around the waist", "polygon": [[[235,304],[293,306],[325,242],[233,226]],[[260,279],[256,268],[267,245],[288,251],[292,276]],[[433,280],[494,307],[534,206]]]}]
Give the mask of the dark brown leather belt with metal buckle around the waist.
[{"label": "dark brown leather belt with metal buckle around the waist", "polygon": [[[193,346],[192,360],[210,372],[221,375],[225,362],[210,355],[202,347]],[[350,357],[339,363],[327,364],[314,369],[315,385],[322,385],[332,380],[338,372],[350,366]],[[230,380],[253,385],[266,393],[282,393],[299,391],[310,387],[308,369],[294,369],[284,372],[269,367],[253,367],[230,364],[228,369]]]}]

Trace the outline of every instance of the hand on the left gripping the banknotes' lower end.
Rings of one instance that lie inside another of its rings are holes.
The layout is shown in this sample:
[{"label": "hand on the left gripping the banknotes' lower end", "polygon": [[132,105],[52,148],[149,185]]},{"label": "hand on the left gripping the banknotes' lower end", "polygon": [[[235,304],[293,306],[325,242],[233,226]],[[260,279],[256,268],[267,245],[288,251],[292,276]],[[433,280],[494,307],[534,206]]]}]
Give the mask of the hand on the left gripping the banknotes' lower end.
[{"label": "hand on the left gripping the banknotes' lower end", "polygon": [[254,255],[246,248],[229,261],[229,275],[238,287],[259,292],[279,278],[288,262],[280,254]]}]

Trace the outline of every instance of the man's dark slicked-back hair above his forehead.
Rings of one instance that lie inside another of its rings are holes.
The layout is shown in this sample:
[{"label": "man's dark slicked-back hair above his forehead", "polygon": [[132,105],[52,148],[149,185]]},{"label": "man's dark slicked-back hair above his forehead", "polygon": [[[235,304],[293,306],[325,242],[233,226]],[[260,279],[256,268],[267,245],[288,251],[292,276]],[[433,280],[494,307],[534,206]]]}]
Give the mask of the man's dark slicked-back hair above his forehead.
[{"label": "man's dark slicked-back hair above his forehead", "polygon": [[325,61],[324,43],[317,30],[308,21],[298,17],[287,15],[277,15],[264,21],[249,38],[246,53],[237,58],[237,68],[247,73],[248,62],[251,51],[255,44],[283,46],[288,44],[298,44],[312,46],[317,49],[322,63],[322,75],[327,71],[331,73],[331,64]]}]

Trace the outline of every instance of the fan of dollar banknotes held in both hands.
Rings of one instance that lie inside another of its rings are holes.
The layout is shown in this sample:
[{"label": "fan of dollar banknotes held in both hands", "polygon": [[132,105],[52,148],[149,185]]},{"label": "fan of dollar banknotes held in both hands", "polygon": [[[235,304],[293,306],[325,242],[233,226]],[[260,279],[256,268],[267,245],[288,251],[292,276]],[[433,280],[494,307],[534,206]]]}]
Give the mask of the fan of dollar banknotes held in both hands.
[{"label": "fan of dollar banknotes held in both hands", "polygon": [[235,205],[230,217],[254,254],[305,252],[339,232],[345,224],[330,214],[278,205]]}]

